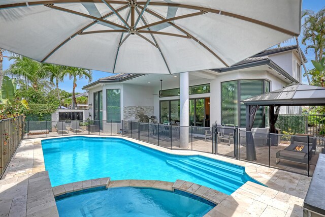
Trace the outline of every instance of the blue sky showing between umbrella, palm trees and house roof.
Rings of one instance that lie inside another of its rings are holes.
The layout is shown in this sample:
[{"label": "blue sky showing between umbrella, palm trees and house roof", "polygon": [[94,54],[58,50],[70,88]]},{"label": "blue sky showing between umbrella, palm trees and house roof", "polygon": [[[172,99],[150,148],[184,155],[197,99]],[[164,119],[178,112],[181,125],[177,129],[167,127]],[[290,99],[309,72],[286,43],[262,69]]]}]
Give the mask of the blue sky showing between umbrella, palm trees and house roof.
[{"label": "blue sky showing between umbrella, palm trees and house roof", "polygon": [[[312,11],[319,11],[321,8],[324,8],[325,7],[325,1],[324,0],[303,0],[303,10],[312,10]],[[301,41],[301,37],[299,37],[299,41]],[[294,39],[286,42],[286,43],[283,43],[281,44],[281,46],[286,46],[286,45],[293,45],[293,44],[296,44],[296,41]],[[302,45],[300,44],[301,46],[301,49],[303,50],[305,56],[307,57],[308,59],[308,63],[306,64],[306,68],[307,70],[308,69],[313,69],[313,65],[311,64],[311,59],[314,59],[314,53],[313,53],[313,50],[310,50],[308,52],[308,54],[305,53],[305,45]],[[8,55],[5,53],[5,55]],[[8,58],[4,58],[4,62],[3,62],[3,67],[4,67],[4,70],[8,69],[10,64],[12,64],[13,61],[9,61]],[[304,70],[302,70],[303,73],[304,73]],[[106,76],[110,76],[112,75],[111,73],[107,73],[107,72],[101,72],[101,71],[95,71],[93,70],[92,71],[92,81],[96,81],[98,80],[99,78],[102,78],[102,77],[106,77]],[[59,88],[60,89],[64,89],[68,92],[72,92],[72,87],[73,87],[73,84],[72,84],[72,80],[69,80],[69,77],[66,77],[64,78],[63,82],[61,82],[59,84]],[[303,83],[307,83],[307,78],[306,77],[303,77]],[[84,90],[82,90],[81,88],[88,84],[88,80],[86,79],[80,79],[77,81],[77,87],[76,87],[76,92],[83,92]]]}]

